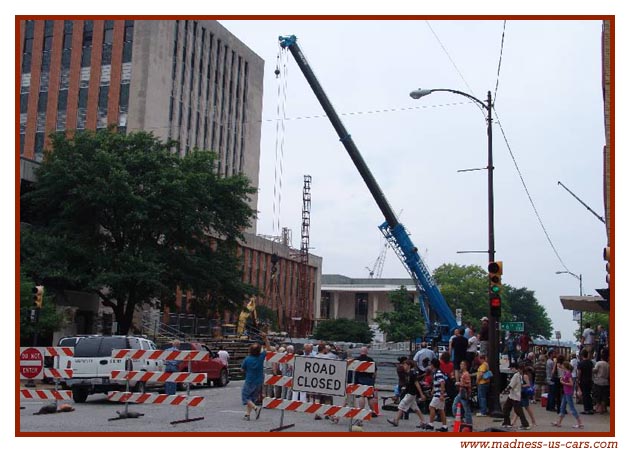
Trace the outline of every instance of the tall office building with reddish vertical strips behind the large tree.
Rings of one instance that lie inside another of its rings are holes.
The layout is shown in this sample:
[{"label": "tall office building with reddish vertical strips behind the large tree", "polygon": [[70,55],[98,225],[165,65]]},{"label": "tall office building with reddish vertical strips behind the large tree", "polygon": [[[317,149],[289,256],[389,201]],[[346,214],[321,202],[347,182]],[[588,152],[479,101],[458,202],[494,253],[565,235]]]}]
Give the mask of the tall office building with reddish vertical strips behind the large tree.
[{"label": "tall office building with reddish vertical strips behind the large tree", "polygon": [[[51,132],[113,125],[121,132],[145,130],[176,140],[174,152],[180,154],[211,149],[220,175],[245,174],[258,186],[264,61],[218,22],[23,20],[20,37],[22,180],[34,182],[33,167]],[[256,194],[251,206],[257,208]],[[246,233],[239,250],[243,280],[268,293],[272,246],[255,236],[255,222]],[[277,296],[259,303],[290,318],[297,270],[288,248],[278,254],[279,273],[273,277],[281,281],[282,306]],[[319,300],[321,258],[313,256],[309,268],[311,307]],[[70,303],[82,319],[67,333],[107,331],[102,325],[111,322],[111,314],[102,312],[97,299],[79,295],[68,299],[75,300]],[[181,311],[190,296],[178,294]],[[312,312],[304,316],[313,319]]]}]

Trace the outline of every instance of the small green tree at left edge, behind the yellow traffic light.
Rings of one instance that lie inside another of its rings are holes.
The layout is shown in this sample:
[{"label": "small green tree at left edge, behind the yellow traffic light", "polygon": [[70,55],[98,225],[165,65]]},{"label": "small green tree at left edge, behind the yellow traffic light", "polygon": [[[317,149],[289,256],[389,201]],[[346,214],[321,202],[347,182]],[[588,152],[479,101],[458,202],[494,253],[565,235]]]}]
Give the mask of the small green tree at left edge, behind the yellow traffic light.
[{"label": "small green tree at left edge, behind the yellow traffic light", "polygon": [[31,344],[33,337],[48,336],[63,324],[63,316],[57,312],[52,295],[44,290],[42,308],[39,310],[37,322],[31,319],[33,309],[33,288],[35,283],[23,272],[20,272],[20,344]]}]

